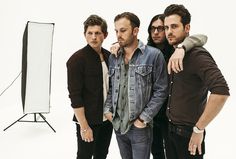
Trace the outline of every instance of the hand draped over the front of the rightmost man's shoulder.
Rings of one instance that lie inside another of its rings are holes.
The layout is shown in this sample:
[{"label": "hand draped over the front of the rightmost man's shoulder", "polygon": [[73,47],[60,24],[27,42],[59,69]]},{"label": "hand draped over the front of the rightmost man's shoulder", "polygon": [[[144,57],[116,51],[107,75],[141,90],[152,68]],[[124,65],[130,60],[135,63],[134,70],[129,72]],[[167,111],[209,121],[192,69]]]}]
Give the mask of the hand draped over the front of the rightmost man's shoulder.
[{"label": "hand draped over the front of the rightmost man's shoulder", "polygon": [[183,48],[176,48],[175,52],[171,55],[168,62],[168,73],[171,74],[171,70],[175,73],[183,71],[183,59],[185,51]]}]

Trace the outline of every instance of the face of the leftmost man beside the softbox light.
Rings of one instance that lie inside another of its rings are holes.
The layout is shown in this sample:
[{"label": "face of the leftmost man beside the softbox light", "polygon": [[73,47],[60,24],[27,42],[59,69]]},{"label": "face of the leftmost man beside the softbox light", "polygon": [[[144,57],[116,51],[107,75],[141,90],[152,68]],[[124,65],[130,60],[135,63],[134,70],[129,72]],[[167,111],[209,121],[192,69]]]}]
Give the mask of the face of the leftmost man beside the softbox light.
[{"label": "face of the leftmost man beside the softbox light", "polygon": [[102,47],[103,40],[106,38],[106,35],[102,32],[101,26],[98,25],[88,26],[84,36],[87,43],[95,50]]}]

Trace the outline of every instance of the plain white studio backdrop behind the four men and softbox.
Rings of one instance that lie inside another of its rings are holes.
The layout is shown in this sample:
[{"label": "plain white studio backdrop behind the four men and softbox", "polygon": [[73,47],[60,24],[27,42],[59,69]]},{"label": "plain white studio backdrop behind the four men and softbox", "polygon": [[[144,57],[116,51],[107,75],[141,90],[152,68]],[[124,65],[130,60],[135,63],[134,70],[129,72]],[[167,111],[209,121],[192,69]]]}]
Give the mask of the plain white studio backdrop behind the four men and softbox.
[{"label": "plain white studio backdrop behind the four men and softbox", "polygon": [[[0,0],[0,92],[21,70],[22,36],[27,21],[55,23],[52,52],[51,113],[46,115],[57,133],[46,124],[17,123],[6,132],[11,122],[22,116],[20,79],[0,97],[0,158],[39,159],[75,158],[75,127],[67,92],[66,61],[83,47],[83,22],[90,14],[98,14],[108,23],[104,47],[116,40],[113,19],[123,11],[137,14],[141,20],[139,38],[146,42],[151,18],[171,3],[184,4],[192,14],[191,34],[208,36],[205,47],[210,51],[230,86],[231,97],[222,112],[207,127],[206,159],[235,158],[235,88],[236,67],[235,5],[233,0]],[[114,136],[113,136],[114,137]],[[40,149],[39,149],[40,147]],[[119,159],[115,138],[109,159]]]}]

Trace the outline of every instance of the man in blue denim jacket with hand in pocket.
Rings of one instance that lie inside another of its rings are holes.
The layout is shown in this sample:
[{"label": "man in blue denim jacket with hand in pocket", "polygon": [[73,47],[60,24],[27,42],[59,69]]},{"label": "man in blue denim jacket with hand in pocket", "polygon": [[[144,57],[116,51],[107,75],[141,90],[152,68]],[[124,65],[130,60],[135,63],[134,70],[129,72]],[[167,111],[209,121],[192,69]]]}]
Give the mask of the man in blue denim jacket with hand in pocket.
[{"label": "man in blue denim jacket with hand in pocket", "polygon": [[167,98],[168,76],[160,50],[138,40],[139,18],[114,19],[118,57],[109,58],[110,88],[104,115],[113,124],[122,159],[149,159],[151,121]]}]

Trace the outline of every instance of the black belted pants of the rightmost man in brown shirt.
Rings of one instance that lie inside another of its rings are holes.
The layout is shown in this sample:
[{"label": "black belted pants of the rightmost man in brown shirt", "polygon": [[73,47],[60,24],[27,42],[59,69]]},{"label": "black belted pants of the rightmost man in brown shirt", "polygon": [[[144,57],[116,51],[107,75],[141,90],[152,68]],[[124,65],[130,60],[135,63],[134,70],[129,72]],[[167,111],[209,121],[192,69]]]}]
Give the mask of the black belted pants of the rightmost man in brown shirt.
[{"label": "black belted pants of the rightmost man in brown shirt", "polygon": [[168,140],[166,143],[166,154],[168,159],[203,159],[205,153],[205,132],[202,141],[202,155],[191,155],[188,151],[188,144],[192,135],[193,127],[174,125],[169,123],[168,125]]}]

